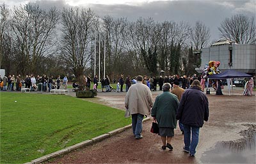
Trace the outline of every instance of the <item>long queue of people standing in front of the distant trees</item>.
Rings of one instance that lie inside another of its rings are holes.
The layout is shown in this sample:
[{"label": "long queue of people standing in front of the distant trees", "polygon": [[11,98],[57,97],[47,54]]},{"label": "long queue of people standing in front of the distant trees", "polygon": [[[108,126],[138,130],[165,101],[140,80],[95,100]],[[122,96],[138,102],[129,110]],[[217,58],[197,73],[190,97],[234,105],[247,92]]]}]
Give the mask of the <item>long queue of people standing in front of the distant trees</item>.
[{"label": "long queue of people standing in front of the distant trees", "polygon": [[[170,75],[170,76],[159,76],[159,77],[148,77],[147,75],[143,76],[143,84],[147,85],[150,91],[157,90],[157,84],[159,86],[159,91],[163,91],[163,84],[170,83],[173,88],[173,82],[178,81],[179,86],[183,89],[188,89],[193,82],[193,80],[197,79],[200,80],[202,77],[197,77],[196,74],[193,76],[180,76],[180,75]],[[111,86],[111,80],[109,79],[108,75],[106,77],[102,77],[99,81],[97,75],[93,77],[83,75],[83,79],[81,80],[81,84],[77,84],[74,82],[72,87],[74,89],[79,89],[79,86],[82,86],[83,90],[91,89],[91,82],[93,82],[93,89],[97,91],[99,82],[101,84],[102,92],[111,92],[113,91],[113,87]],[[113,80],[115,83],[116,80]],[[116,89],[117,92],[124,92],[124,85],[125,91],[129,90],[132,84],[136,84],[136,77],[131,78],[130,75],[124,78],[124,75],[120,75],[117,80]],[[21,87],[24,86],[25,88],[29,88],[31,91],[51,91],[51,89],[60,89],[61,86],[64,89],[67,89],[68,78],[65,76],[63,79],[60,78],[58,75],[57,78],[53,76],[47,77],[46,75],[26,75],[25,78],[21,78],[20,75],[9,75],[8,77],[4,75],[1,77],[0,75],[0,89],[1,91],[20,91]]]}]

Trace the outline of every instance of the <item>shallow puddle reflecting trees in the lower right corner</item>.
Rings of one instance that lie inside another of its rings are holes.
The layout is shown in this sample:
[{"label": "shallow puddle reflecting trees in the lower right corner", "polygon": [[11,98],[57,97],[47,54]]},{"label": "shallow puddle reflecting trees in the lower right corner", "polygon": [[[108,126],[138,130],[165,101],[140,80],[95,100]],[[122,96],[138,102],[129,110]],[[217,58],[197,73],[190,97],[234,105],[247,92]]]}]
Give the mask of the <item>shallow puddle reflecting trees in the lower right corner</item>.
[{"label": "shallow puddle reflecting trees in the lower right corner", "polygon": [[255,163],[256,126],[241,131],[243,138],[234,141],[218,142],[213,150],[206,151],[202,163]]}]

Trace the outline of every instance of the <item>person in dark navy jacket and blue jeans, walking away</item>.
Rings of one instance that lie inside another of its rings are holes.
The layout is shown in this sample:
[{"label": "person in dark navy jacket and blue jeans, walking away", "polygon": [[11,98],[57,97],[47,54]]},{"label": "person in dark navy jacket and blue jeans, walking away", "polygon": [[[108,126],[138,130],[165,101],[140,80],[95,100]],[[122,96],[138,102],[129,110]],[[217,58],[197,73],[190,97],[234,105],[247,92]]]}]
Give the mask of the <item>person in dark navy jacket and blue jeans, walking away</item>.
[{"label": "person in dark navy jacket and blue jeans, walking away", "polygon": [[185,146],[183,150],[189,153],[190,156],[195,156],[199,129],[202,128],[204,121],[208,121],[208,117],[208,98],[202,91],[200,82],[194,80],[191,87],[182,94],[176,116],[176,119],[179,119],[180,123],[184,125]]}]

